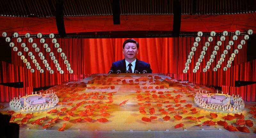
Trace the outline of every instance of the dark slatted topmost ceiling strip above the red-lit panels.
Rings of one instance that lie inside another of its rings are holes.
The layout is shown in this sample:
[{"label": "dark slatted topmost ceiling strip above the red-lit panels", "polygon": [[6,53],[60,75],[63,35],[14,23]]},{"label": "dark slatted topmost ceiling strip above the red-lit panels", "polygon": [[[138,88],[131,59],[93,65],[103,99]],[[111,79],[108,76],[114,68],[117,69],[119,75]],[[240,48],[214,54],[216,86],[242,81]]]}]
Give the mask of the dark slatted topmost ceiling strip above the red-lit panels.
[{"label": "dark slatted topmost ceiling strip above the red-lit panels", "polygon": [[[121,15],[173,14],[175,0],[119,0]],[[0,15],[53,17],[63,3],[64,16],[112,15],[112,0],[3,0]],[[255,0],[180,0],[181,14],[237,14],[256,11]]]}]

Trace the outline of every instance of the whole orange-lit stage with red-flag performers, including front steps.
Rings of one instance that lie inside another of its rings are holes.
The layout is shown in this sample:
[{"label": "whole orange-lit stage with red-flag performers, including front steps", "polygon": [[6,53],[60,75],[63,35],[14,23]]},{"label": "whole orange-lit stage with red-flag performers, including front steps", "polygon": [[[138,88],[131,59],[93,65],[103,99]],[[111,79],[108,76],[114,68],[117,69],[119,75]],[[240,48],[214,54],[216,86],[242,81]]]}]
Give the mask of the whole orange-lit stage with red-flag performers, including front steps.
[{"label": "whole orange-lit stage with red-flag performers, including front steps", "polygon": [[[55,91],[59,98],[59,104],[53,108],[57,108],[57,113],[47,113],[53,109],[33,111],[33,117],[20,127],[20,137],[256,137],[255,125],[245,125],[250,133],[230,132],[224,126],[217,125],[215,128],[207,123],[201,129],[200,121],[224,121],[225,116],[234,116],[235,113],[213,112],[198,107],[194,103],[196,91],[215,93],[216,90],[190,82],[180,82],[164,74],[94,74],[82,81],[53,86],[47,91],[49,90]],[[237,114],[242,113],[244,120],[251,120],[255,124],[256,119],[249,113],[253,111],[250,108],[255,103],[244,103],[245,109]],[[6,111],[10,110],[9,103],[1,105],[4,105],[1,113],[8,114]],[[63,109],[65,107],[67,110]],[[154,113],[149,110],[152,108],[155,109]],[[74,114],[67,114],[68,111]],[[218,116],[213,118],[210,113],[217,113]],[[19,113],[14,113],[13,116],[17,114]],[[14,122],[20,123],[26,114],[22,113]],[[180,115],[182,119],[174,118],[175,115]],[[205,118],[199,119],[197,124],[190,120],[204,115]],[[46,116],[49,118],[37,128],[31,124]],[[142,120],[143,117],[152,116],[156,119],[147,120],[150,122]],[[57,117],[59,118],[54,123],[51,122],[50,128],[43,128]],[[92,119],[91,122],[88,118]],[[234,123],[235,127],[239,127],[236,118],[226,121],[228,125]],[[66,126],[58,131],[64,123]],[[185,127],[175,128],[180,123]]]}]

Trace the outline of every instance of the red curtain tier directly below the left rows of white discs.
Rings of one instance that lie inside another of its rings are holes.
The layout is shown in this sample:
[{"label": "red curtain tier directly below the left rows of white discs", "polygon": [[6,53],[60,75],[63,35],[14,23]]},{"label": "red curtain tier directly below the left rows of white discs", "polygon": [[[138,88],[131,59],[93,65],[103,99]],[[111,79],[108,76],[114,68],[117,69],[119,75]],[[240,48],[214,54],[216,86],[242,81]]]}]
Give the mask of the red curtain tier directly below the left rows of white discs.
[{"label": "red curtain tier directly below the left rows of white discs", "polygon": [[50,74],[48,72],[40,73],[38,71],[31,73],[30,70],[25,67],[0,62],[0,78],[3,78],[0,79],[0,83],[23,82],[24,87],[32,86],[33,88],[39,88],[44,86],[60,85],[64,82],[68,82],[69,80],[79,81],[87,76],[89,75],[60,73]]}]

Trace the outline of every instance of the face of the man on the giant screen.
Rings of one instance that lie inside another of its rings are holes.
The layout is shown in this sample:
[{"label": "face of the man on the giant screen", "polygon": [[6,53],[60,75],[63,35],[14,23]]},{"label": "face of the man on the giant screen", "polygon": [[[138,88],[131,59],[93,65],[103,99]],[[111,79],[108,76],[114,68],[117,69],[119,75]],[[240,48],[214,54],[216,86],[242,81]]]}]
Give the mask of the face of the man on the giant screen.
[{"label": "face of the man on the giant screen", "polygon": [[125,59],[136,59],[139,51],[135,43],[126,43],[123,49]]}]

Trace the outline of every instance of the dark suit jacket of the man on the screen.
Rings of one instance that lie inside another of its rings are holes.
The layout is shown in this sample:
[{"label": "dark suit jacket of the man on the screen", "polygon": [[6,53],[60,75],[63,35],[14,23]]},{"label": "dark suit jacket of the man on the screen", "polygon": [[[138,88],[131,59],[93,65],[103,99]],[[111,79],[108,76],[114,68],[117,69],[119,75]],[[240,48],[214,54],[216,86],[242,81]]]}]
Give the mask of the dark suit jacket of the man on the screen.
[{"label": "dark suit jacket of the man on the screen", "polygon": [[[126,71],[125,59],[113,62],[110,70],[113,70],[113,73],[116,73],[117,70],[121,70],[121,73],[125,73]],[[152,73],[150,64],[140,61],[138,59],[136,59],[136,62],[135,62],[134,71],[135,70],[138,70],[140,73],[142,73],[143,70],[146,70],[147,73]]]}]

